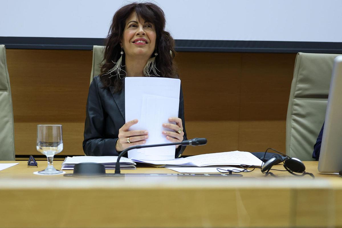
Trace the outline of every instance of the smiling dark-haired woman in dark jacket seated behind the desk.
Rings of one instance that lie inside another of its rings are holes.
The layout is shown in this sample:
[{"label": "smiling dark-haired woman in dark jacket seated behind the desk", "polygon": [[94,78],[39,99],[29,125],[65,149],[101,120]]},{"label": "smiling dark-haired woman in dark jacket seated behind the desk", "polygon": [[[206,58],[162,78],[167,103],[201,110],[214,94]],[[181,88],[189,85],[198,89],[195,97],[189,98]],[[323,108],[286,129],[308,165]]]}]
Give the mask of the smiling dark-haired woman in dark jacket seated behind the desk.
[{"label": "smiling dark-haired woman in dark jacket seated behind the desk", "polygon": [[[165,15],[152,3],[123,6],[113,17],[101,73],[90,84],[83,150],[88,156],[117,156],[120,151],[146,143],[148,132],[130,131],[138,120],[124,115],[124,77],[178,78],[174,41],[165,30]],[[176,124],[172,124],[175,122]],[[186,140],[184,102],[180,90],[179,116],[163,123],[169,131],[160,132],[170,142]],[[175,158],[185,146],[176,146]]]}]

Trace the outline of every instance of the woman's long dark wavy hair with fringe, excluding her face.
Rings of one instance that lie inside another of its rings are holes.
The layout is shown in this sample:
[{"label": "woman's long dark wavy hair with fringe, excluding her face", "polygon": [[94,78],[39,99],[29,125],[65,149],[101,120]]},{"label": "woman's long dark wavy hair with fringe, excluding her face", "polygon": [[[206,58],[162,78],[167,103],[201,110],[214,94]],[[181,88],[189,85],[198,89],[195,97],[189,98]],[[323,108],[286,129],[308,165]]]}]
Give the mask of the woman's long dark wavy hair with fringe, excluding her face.
[{"label": "woman's long dark wavy hair with fringe, excluding her face", "polygon": [[[160,71],[158,74],[165,78],[178,78],[177,68],[173,62],[175,56],[174,40],[170,33],[165,31],[164,12],[159,6],[153,3],[132,3],[116,11],[106,38],[104,64],[101,67],[100,79],[104,88],[114,86],[114,92],[122,90],[123,82],[120,77],[111,77],[108,72],[115,66],[114,62],[117,62],[121,56],[120,41],[123,36],[123,30],[126,26],[127,18],[133,12],[136,13],[137,18],[151,22],[155,26],[157,35],[156,50],[158,52],[156,56],[156,67]],[[124,55],[122,57],[122,65],[124,65]],[[152,71],[149,73],[150,75],[154,75]],[[122,72],[122,74],[125,74],[125,72]]]}]

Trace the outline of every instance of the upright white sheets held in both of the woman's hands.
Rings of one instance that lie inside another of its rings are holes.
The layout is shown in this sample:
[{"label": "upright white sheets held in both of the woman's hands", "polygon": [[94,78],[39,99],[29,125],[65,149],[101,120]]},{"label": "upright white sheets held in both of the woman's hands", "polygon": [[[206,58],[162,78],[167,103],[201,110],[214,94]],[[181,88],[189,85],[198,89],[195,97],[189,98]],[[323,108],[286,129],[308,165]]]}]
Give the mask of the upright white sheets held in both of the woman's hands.
[{"label": "upright white sheets held in both of the woman's hands", "polygon": [[[163,123],[170,117],[178,117],[181,81],[172,78],[125,78],[125,119],[138,119],[129,130],[147,130],[145,145],[170,143],[163,130]],[[129,158],[143,160],[173,159],[175,146],[142,148],[128,151]]]}]

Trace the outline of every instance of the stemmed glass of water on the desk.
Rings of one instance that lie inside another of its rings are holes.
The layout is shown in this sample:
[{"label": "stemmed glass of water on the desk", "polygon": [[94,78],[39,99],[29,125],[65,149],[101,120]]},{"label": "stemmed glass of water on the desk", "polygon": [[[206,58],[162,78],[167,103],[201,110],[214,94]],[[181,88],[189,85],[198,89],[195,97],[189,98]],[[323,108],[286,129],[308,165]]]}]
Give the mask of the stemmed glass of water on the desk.
[{"label": "stemmed glass of water on the desk", "polygon": [[53,167],[53,156],[63,150],[62,125],[37,125],[37,150],[48,158],[48,167],[38,173],[63,173]]}]

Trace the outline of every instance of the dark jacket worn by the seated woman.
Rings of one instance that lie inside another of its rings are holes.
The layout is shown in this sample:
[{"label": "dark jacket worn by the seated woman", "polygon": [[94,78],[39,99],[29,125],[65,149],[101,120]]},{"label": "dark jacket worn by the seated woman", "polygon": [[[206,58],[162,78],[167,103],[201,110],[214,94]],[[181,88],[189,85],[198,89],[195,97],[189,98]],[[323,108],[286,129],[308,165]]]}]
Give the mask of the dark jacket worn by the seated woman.
[{"label": "dark jacket worn by the seated woman", "polygon": [[[83,151],[87,156],[118,156],[115,149],[119,129],[125,124],[125,93],[114,93],[114,87],[103,89],[98,76],[89,87],[84,124]],[[184,121],[182,86],[179,97],[178,117],[182,119],[184,139],[187,140]],[[183,154],[186,146],[179,146],[175,158]]]}]

